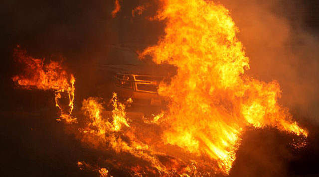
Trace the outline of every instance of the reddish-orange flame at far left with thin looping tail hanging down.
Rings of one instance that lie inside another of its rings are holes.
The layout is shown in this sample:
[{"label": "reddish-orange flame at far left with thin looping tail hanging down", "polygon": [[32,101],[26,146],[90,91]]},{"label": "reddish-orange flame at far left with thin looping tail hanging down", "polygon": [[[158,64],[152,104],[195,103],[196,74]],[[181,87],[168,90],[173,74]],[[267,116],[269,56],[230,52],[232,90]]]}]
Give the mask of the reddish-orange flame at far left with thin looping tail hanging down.
[{"label": "reddish-orange flame at far left with thin looping tail hanging down", "polygon": [[[23,65],[23,70],[19,75],[12,78],[22,89],[42,89],[55,91],[55,103],[61,111],[61,119],[66,122],[76,122],[76,118],[71,116],[74,100],[74,82],[73,75],[68,75],[63,70],[61,62],[50,61],[44,64],[44,59],[35,59],[26,55],[26,51],[19,48],[14,49],[14,59],[18,64]],[[65,111],[59,104],[61,93],[66,92],[69,98],[69,109]],[[60,119],[58,119],[60,120]]]}]

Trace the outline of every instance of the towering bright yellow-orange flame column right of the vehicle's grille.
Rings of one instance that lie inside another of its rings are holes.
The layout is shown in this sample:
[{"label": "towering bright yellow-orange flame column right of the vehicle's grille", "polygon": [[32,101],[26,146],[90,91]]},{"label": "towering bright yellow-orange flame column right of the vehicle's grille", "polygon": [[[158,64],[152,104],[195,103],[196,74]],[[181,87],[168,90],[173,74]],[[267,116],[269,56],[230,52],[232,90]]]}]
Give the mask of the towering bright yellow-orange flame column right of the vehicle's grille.
[{"label": "towering bright yellow-orange flame column right of the vehicle's grille", "polygon": [[249,69],[229,11],[206,0],[161,0],[155,19],[166,21],[165,36],[143,56],[178,68],[170,85],[159,93],[169,100],[163,140],[197,156],[217,161],[228,174],[245,126],[276,126],[303,134],[277,98],[277,82],[244,77]]}]

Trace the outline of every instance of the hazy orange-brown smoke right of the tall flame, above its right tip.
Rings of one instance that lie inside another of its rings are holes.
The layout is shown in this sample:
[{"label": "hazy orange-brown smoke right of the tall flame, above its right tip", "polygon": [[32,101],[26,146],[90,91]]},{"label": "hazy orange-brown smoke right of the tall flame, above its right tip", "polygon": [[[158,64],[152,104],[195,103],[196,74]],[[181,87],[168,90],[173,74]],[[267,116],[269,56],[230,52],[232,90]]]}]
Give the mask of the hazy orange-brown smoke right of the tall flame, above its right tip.
[{"label": "hazy orange-brown smoke right of the tall flame, above its right tip", "polygon": [[[309,0],[220,0],[240,29],[254,78],[277,80],[279,102],[293,114],[319,118],[319,38]],[[312,7],[316,8],[316,7]]]}]

